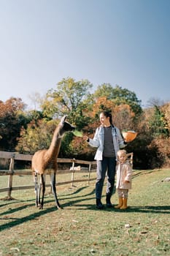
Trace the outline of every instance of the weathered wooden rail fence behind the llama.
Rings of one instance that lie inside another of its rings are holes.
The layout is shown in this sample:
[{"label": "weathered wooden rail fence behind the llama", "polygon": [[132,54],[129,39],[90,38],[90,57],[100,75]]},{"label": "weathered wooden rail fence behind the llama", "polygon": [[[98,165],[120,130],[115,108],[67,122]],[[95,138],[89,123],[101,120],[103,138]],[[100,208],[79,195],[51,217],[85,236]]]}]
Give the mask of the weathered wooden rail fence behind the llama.
[{"label": "weathered wooden rail fence behind the llama", "polygon": [[[0,192],[7,192],[6,199],[10,200],[12,199],[12,190],[22,190],[22,189],[34,189],[34,185],[32,186],[22,186],[22,187],[13,187],[12,181],[13,176],[20,176],[20,175],[32,175],[31,170],[14,170],[15,166],[15,160],[22,160],[22,161],[30,161],[32,159],[31,154],[19,154],[14,152],[6,152],[6,151],[0,151],[0,159],[10,159],[9,162],[9,170],[0,170],[0,176],[8,176],[8,184],[6,188],[0,187]],[[57,182],[56,186],[62,185],[62,184],[73,184],[75,182],[82,182],[82,181],[88,181],[88,184],[90,181],[93,181],[96,178],[90,178],[90,173],[93,171],[96,171],[95,169],[92,169],[92,167],[96,167],[96,161],[84,161],[84,160],[78,160],[78,159],[64,159],[64,158],[58,158],[58,163],[70,163],[72,167],[70,167],[69,170],[58,170],[57,173],[71,173],[72,178],[71,181],[63,181],[63,182]],[[78,166],[75,166],[75,164]],[[88,167],[81,167],[81,165],[88,165]],[[74,173],[88,173],[88,178],[83,179],[75,179]],[[50,184],[46,184],[46,187],[50,187]]]}]

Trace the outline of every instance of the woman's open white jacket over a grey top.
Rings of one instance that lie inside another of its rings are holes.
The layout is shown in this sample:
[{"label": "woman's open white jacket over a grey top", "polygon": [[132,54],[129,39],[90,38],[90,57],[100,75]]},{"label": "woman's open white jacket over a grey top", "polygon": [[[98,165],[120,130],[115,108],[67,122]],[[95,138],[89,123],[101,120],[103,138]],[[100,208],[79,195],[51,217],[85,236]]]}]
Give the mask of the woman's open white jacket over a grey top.
[{"label": "woman's open white jacket over a grey top", "polygon": [[[115,155],[117,155],[117,151],[120,148],[124,148],[126,145],[124,140],[120,134],[120,130],[117,127],[112,126],[112,138],[113,145],[115,148]],[[98,127],[96,129],[95,135],[93,139],[89,138],[89,145],[98,148],[95,154],[95,160],[103,159],[103,151],[104,151],[104,127]]]}]

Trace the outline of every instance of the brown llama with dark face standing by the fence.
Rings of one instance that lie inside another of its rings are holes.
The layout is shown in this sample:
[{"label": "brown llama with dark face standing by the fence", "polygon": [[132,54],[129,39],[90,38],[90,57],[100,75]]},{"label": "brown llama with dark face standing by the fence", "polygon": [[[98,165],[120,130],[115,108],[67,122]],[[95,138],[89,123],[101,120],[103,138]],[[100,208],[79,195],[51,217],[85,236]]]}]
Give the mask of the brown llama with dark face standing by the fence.
[{"label": "brown llama with dark face standing by the fence", "polygon": [[[55,203],[58,208],[61,208],[60,203],[58,202],[58,197],[55,187],[55,175],[57,171],[57,157],[61,147],[61,140],[63,138],[64,132],[69,132],[74,130],[71,124],[66,122],[66,116],[61,118],[60,123],[55,128],[53,134],[53,139],[50,143],[48,149],[42,149],[36,151],[32,158],[31,168],[34,176],[35,183],[35,192],[36,192],[36,207],[39,209],[43,208],[44,197],[45,197],[45,177],[46,174],[50,174],[50,184],[52,187],[52,192],[55,197]],[[40,175],[39,184],[38,184],[38,174]],[[41,201],[41,190],[42,190],[42,201]]]}]

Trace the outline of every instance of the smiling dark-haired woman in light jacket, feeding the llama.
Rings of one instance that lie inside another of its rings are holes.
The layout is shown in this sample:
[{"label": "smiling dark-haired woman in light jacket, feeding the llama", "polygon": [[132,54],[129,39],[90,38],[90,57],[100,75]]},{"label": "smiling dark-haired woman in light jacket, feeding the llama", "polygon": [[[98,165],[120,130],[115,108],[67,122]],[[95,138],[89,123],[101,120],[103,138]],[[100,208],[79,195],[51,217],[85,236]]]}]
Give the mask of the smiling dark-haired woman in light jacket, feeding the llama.
[{"label": "smiling dark-haired woman in light jacket, feeding the llama", "polygon": [[116,155],[120,148],[124,148],[126,142],[120,135],[120,130],[112,124],[112,114],[107,111],[100,113],[101,126],[96,129],[93,139],[83,136],[90,146],[98,148],[94,159],[97,161],[96,178],[96,207],[104,208],[101,203],[104,178],[107,172],[107,207],[112,207],[111,196],[115,184]]}]

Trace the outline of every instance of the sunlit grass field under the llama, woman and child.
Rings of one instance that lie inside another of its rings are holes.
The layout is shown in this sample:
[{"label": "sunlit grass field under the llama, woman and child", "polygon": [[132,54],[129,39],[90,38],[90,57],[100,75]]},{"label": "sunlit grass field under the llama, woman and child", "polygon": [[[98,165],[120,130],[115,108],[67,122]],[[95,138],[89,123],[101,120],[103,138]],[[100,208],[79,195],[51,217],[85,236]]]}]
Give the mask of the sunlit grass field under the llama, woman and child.
[{"label": "sunlit grass field under the llama, woman and child", "polygon": [[[82,174],[81,174],[82,175]],[[96,176],[96,174],[93,174]],[[53,195],[43,210],[35,207],[34,189],[0,194],[0,256],[11,255],[170,255],[170,170],[134,171],[127,210],[97,210],[95,182],[58,186],[63,210]],[[15,183],[32,182],[30,176]],[[0,187],[7,187],[0,176]],[[102,201],[105,203],[104,185]],[[47,189],[49,190],[49,189]],[[112,196],[117,204],[117,193]]]}]

